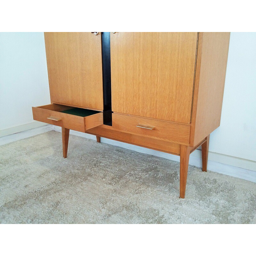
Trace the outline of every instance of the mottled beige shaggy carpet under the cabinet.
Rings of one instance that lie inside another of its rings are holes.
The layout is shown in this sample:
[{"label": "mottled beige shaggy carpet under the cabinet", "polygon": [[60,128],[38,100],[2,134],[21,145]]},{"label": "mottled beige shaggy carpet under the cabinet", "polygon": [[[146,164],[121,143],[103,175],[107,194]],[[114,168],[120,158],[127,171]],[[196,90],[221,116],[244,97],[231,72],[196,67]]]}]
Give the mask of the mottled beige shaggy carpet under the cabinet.
[{"label": "mottled beige shaggy carpet under the cabinet", "polygon": [[47,132],[0,147],[1,223],[256,223],[256,183]]}]

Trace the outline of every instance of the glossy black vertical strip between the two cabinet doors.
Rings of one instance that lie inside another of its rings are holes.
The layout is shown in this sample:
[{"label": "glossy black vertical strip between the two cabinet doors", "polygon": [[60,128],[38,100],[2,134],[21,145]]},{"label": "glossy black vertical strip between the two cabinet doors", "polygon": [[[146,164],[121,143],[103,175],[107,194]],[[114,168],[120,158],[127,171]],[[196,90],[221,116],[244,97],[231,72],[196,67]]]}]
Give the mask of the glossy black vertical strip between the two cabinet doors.
[{"label": "glossy black vertical strip between the two cabinet doors", "polygon": [[101,32],[102,76],[103,76],[103,124],[112,125],[110,32]]}]

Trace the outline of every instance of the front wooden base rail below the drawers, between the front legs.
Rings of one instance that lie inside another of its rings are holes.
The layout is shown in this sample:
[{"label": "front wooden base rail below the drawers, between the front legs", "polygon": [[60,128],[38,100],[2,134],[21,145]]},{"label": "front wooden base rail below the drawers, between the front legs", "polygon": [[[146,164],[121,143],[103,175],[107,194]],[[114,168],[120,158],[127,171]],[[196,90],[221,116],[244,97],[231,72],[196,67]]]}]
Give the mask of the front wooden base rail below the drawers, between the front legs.
[{"label": "front wooden base rail below the drawers, between the front legs", "polygon": [[86,133],[97,135],[103,138],[118,140],[121,142],[133,144],[136,146],[150,148],[174,155],[180,155],[180,145],[168,141],[151,139],[143,136],[138,136],[126,132],[120,132],[109,125],[100,125],[92,128]]}]

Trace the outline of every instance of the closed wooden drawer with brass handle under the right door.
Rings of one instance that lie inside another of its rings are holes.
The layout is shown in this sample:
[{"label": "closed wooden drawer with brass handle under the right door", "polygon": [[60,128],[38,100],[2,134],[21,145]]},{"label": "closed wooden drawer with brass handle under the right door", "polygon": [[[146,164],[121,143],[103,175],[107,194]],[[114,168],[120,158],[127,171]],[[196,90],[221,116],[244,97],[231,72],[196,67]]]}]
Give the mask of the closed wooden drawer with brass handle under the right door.
[{"label": "closed wooden drawer with brass handle under the right door", "polygon": [[112,114],[112,126],[136,135],[189,145],[190,125]]}]

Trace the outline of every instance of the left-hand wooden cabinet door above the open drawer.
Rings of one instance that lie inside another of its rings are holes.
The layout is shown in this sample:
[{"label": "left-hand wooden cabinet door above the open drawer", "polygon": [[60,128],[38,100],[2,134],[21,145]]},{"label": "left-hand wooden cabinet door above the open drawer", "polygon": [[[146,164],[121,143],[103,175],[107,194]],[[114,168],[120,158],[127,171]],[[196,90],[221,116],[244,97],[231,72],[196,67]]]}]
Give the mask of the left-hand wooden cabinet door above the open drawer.
[{"label": "left-hand wooden cabinet door above the open drawer", "polygon": [[44,33],[52,103],[103,110],[101,35]]}]

